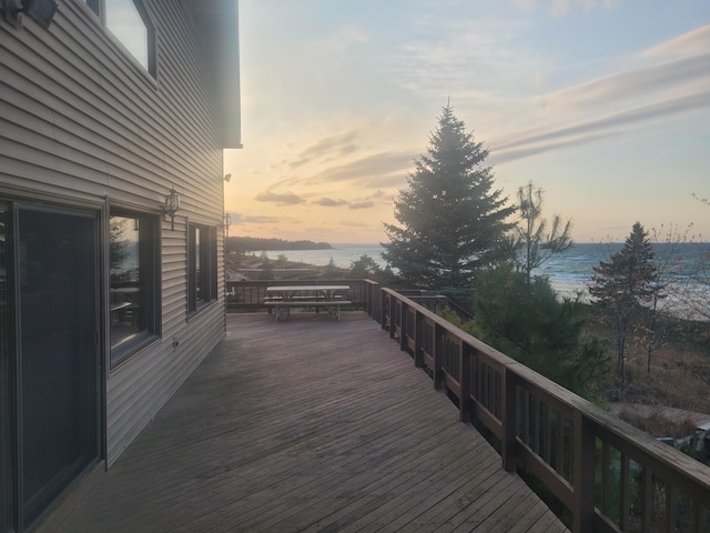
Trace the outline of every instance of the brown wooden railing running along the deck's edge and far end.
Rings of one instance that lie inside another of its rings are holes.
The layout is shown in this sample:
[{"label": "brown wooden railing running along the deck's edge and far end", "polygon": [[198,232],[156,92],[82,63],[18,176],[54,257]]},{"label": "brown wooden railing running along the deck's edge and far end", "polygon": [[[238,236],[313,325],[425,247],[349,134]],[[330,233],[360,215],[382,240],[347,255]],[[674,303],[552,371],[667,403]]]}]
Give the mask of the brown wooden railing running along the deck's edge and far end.
[{"label": "brown wooden railing running along the deck's edge and far end", "polygon": [[[535,474],[569,510],[574,532],[710,531],[710,467],[484,344],[413,298],[369,280],[329,282],[351,285],[349,300],[388,330],[414,364],[428,370],[436,389],[445,386],[456,398],[460,420],[477,420],[495,435],[503,467]],[[265,309],[265,288],[278,283],[293,282],[229,282],[227,309]]]}]

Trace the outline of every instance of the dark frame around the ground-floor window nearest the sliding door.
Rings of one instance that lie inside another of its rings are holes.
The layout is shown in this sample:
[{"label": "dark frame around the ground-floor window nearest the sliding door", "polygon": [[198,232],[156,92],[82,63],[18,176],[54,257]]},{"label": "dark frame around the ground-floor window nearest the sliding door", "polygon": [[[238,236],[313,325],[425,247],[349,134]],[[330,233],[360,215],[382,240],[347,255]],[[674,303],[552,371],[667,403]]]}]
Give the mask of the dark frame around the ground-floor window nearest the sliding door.
[{"label": "dark frame around the ground-floor window nearest the sliding door", "polygon": [[[138,220],[139,232],[139,301],[138,309],[141,310],[139,314],[140,329],[118,343],[113,343],[111,339],[112,333],[112,318],[111,318],[111,219],[113,217],[122,217],[126,219]],[[106,301],[108,314],[109,314],[109,369],[115,370],[125,361],[130,360],[138,352],[143,350],[146,345],[158,341],[162,334],[162,305],[161,305],[161,222],[160,215],[139,211],[134,209],[124,209],[121,207],[112,205],[108,215],[106,228],[106,243],[109,249],[109,261],[106,264],[106,279],[109,280],[109,299]]]}]

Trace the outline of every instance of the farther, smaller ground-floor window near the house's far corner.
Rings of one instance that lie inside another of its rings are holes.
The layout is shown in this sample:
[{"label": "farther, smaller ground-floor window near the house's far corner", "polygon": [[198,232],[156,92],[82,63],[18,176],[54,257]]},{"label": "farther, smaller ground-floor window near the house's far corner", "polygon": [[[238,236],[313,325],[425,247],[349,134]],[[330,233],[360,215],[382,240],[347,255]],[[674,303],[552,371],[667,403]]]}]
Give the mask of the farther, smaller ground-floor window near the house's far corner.
[{"label": "farther, smaller ground-floor window near the house's far corner", "polygon": [[217,299],[217,230],[187,227],[187,312]]}]

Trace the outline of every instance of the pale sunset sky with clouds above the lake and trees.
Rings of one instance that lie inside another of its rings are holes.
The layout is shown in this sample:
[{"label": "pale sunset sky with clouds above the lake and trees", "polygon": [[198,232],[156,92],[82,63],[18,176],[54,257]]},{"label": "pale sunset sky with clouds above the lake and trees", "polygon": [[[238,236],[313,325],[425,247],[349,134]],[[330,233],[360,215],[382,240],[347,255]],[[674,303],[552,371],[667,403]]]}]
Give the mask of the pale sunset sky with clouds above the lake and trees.
[{"label": "pale sunset sky with clouds above the lake and trees", "polygon": [[240,0],[240,52],[231,235],[387,242],[449,102],[574,241],[710,240],[709,0]]}]

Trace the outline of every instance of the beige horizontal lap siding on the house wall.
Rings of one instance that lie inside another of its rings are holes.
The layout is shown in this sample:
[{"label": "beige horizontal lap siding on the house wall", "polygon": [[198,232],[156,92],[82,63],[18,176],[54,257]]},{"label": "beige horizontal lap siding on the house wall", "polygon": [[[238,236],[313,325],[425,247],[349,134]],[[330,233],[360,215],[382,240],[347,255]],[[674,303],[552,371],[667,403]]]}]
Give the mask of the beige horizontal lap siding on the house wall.
[{"label": "beige horizontal lap siding on the house wall", "polygon": [[[144,3],[155,26],[156,79],[80,0],[60,2],[49,30],[0,21],[0,190],[97,205],[108,198],[152,213],[171,187],[182,200],[174,231],[161,221],[161,339],[108,378],[109,462],[224,335],[222,268],[219,300],[186,315],[186,222],[222,221],[210,58],[191,2]],[[217,260],[221,266],[221,245]]]}]

